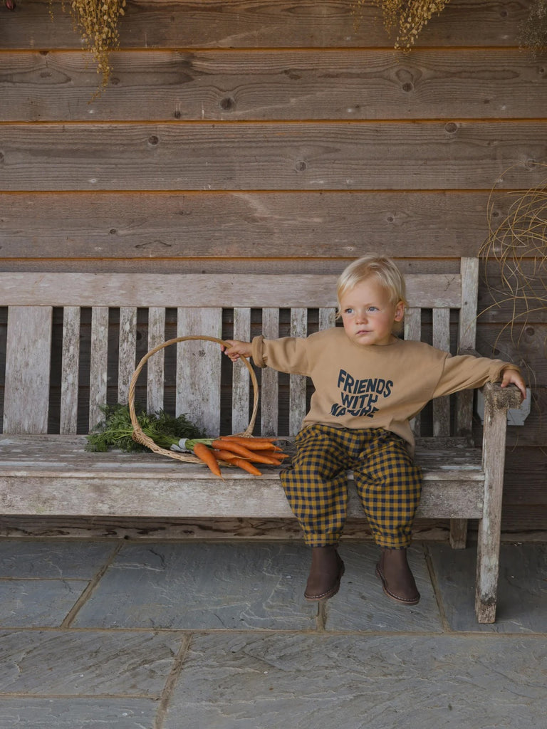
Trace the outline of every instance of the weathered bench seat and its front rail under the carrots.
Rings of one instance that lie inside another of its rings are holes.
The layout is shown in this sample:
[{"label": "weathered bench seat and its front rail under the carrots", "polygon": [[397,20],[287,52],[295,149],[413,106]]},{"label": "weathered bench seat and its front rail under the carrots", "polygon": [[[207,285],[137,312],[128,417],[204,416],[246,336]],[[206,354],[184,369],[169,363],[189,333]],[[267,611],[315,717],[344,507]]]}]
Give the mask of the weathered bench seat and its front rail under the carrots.
[{"label": "weathered bench seat and its front rail under the carrots", "polygon": [[[31,443],[36,440],[0,437],[2,513],[294,518],[279,483],[279,469],[273,467],[263,467],[260,478],[226,467],[220,480],[206,468],[152,453],[86,453],[82,436],[45,436],[35,450]],[[450,518],[455,512],[481,516],[480,455],[470,449],[468,455],[473,467],[447,468],[447,451],[424,452],[419,518]],[[461,456],[465,458],[465,451]],[[365,519],[351,480],[349,493],[349,516]]]}]

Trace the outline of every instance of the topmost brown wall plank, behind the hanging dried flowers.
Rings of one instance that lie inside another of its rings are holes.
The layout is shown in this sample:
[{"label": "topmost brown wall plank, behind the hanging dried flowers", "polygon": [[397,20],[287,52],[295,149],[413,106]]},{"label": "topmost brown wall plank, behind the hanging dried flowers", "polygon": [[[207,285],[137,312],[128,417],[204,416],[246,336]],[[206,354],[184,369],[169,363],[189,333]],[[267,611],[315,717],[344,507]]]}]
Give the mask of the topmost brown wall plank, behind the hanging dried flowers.
[{"label": "topmost brown wall plank, behind the hanging dried flowers", "polygon": [[[4,12],[4,47],[79,49],[81,39],[60,5],[53,4],[53,23],[47,0],[26,0],[26,12]],[[129,4],[120,23],[122,47],[389,47],[393,42],[373,4],[362,5],[355,27],[354,0],[314,0],[296,6],[279,0],[174,0],[170,7],[172,12],[152,1]],[[418,45],[517,47],[519,23],[527,9],[528,4],[511,0],[452,0],[432,17]]]}]

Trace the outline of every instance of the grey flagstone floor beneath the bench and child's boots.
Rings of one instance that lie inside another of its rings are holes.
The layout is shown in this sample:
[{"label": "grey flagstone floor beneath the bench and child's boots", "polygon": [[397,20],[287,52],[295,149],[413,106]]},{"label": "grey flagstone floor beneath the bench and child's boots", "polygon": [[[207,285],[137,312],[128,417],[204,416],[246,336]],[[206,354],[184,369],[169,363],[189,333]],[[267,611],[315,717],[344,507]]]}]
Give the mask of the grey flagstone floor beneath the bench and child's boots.
[{"label": "grey flagstone floor beneath the bench and child's boots", "polygon": [[340,553],[318,607],[294,542],[0,540],[0,729],[546,726],[546,544],[502,545],[493,625],[473,546],[411,548],[415,607]]}]

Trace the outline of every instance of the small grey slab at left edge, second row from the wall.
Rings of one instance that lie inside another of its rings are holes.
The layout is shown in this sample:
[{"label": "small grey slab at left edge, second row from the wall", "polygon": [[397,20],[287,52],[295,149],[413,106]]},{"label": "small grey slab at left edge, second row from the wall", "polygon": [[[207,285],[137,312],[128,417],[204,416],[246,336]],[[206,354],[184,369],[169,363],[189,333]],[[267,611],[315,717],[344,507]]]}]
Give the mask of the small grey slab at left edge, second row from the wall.
[{"label": "small grey slab at left edge, second row from the wall", "polygon": [[0,626],[58,628],[87,586],[85,580],[0,580]]}]

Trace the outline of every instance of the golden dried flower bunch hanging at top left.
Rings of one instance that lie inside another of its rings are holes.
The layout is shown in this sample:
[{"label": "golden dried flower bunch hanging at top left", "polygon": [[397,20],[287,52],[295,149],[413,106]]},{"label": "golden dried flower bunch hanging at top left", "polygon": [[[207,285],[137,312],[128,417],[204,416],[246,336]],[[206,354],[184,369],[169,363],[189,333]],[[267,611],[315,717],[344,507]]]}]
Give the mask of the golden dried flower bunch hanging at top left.
[{"label": "golden dried flower bunch hanging at top left", "polygon": [[93,53],[97,63],[97,73],[101,74],[100,93],[106,87],[112,73],[110,52],[120,47],[117,23],[120,15],[124,15],[125,0],[69,1],[74,27],[82,36],[85,50]]}]

